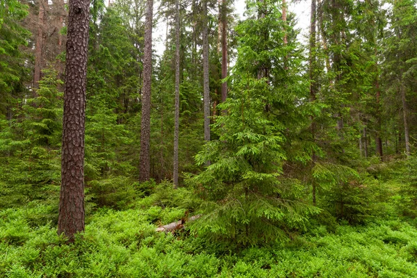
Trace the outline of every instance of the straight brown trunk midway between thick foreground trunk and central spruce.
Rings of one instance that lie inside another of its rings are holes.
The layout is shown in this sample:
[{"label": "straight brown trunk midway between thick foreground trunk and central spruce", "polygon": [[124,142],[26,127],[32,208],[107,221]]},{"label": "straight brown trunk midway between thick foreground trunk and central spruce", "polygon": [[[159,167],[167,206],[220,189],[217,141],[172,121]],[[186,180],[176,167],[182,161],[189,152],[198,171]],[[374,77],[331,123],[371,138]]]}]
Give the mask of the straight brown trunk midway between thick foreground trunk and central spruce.
[{"label": "straight brown trunk midway between thick foreground trunk and central spruce", "polygon": [[151,145],[151,83],[152,83],[152,16],[154,1],[146,1],[145,10],[145,49],[143,53],[143,90],[142,120],[140,128],[140,165],[139,180],[150,178],[150,145]]}]

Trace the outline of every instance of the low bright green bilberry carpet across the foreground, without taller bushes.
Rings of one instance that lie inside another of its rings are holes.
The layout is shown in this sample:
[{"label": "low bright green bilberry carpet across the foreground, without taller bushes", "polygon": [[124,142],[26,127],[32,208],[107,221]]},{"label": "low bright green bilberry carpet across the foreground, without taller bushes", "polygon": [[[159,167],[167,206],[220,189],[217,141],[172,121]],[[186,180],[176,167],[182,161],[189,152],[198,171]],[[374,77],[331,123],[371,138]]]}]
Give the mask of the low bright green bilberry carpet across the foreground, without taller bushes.
[{"label": "low bright green bilberry carpet across the foreground, without taller bushes", "polygon": [[73,245],[47,218],[33,222],[47,207],[0,211],[0,277],[417,277],[413,220],[316,226],[288,243],[220,252],[186,232],[156,233],[185,209],[152,202],[95,211]]}]

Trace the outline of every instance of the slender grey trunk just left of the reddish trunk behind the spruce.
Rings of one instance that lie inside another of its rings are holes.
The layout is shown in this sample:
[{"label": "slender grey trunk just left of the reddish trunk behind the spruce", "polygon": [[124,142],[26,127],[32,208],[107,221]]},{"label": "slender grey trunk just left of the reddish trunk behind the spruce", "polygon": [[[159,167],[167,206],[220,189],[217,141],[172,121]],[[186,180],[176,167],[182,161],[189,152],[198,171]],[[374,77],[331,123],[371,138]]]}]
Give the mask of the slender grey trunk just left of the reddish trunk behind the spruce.
[{"label": "slender grey trunk just left of the reddish trunk behind the spruce", "polygon": [[[202,1],[203,8],[203,97],[204,97],[204,140],[210,141],[210,88],[208,80],[208,15],[207,0]],[[209,162],[207,163],[210,164]]]}]

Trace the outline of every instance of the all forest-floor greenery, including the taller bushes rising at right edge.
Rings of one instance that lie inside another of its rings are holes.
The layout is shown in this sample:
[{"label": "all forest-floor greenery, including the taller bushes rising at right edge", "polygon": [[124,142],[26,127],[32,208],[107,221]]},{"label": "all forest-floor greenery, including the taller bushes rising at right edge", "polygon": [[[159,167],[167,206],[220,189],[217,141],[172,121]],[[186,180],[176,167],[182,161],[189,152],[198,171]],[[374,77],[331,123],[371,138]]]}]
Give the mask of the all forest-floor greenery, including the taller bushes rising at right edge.
[{"label": "all forest-floor greenery, including the taller bushes rising at right edge", "polygon": [[[378,179],[368,177],[356,195],[337,189],[347,196],[348,217],[337,219],[321,210],[304,227],[288,227],[285,240],[253,247],[227,236],[213,240],[200,230],[206,218],[186,222],[186,229],[156,232],[199,206],[189,189],[173,190],[168,182],[132,183],[129,190],[136,197],[122,207],[115,202],[119,209],[88,206],[85,233],[72,245],[56,234],[57,203],[5,208],[0,213],[0,275],[416,277],[414,194],[404,191],[411,177],[405,175],[408,167],[403,162],[369,167]],[[329,209],[340,206],[323,202]],[[359,222],[348,222],[354,219]]]}]

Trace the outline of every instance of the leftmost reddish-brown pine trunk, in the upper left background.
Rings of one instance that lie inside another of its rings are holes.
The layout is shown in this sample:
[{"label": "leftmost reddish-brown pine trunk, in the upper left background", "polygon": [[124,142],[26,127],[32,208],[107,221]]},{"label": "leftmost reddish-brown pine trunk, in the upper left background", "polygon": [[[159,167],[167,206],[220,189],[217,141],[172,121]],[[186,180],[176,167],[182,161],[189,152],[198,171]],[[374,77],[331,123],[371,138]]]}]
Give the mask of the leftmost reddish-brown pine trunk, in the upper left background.
[{"label": "leftmost reddish-brown pine trunk, in the upper left background", "polygon": [[43,58],[43,47],[44,47],[44,27],[48,1],[39,0],[39,13],[38,13],[38,34],[36,35],[35,43],[35,69],[33,72],[33,88],[39,88],[39,81],[41,79],[42,72],[42,58]]}]

